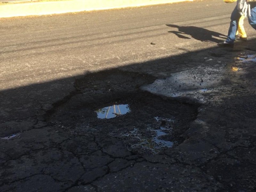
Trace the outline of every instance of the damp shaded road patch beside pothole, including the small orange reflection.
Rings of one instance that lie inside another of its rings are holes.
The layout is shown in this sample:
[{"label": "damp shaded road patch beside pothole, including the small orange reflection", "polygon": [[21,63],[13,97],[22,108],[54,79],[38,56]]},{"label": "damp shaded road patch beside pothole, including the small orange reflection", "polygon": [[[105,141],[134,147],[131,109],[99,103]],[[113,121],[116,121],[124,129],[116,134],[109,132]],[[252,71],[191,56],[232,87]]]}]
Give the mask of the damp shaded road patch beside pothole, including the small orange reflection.
[{"label": "damp shaded road patch beside pothole, including the small orange reflection", "polygon": [[242,73],[240,68],[224,64],[198,66],[173,73],[165,79],[157,79],[141,89],[166,97],[192,99],[205,104],[210,100],[221,100],[224,90],[232,89],[232,83],[240,81],[239,76]]}]

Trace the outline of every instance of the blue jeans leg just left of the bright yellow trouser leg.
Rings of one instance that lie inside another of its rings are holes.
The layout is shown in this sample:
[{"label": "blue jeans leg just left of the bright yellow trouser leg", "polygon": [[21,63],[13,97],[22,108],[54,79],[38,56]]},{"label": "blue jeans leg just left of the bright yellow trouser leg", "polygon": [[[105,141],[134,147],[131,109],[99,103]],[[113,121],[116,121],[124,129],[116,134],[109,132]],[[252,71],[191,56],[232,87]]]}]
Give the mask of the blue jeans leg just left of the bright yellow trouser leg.
[{"label": "blue jeans leg just left of the bright yellow trouser leg", "polygon": [[[255,12],[255,14],[256,14],[256,12]],[[238,28],[238,22],[239,22],[240,17],[241,17],[241,15],[239,14],[239,12],[237,10],[237,5],[236,5],[235,9],[233,10],[233,12],[231,13],[231,16],[230,16],[231,21],[230,21],[230,26],[228,29],[228,38],[226,39],[227,43],[234,43],[234,41],[236,40],[236,31]],[[256,15],[255,15],[255,18],[256,18]],[[255,23],[255,27],[256,27],[256,23]]]}]

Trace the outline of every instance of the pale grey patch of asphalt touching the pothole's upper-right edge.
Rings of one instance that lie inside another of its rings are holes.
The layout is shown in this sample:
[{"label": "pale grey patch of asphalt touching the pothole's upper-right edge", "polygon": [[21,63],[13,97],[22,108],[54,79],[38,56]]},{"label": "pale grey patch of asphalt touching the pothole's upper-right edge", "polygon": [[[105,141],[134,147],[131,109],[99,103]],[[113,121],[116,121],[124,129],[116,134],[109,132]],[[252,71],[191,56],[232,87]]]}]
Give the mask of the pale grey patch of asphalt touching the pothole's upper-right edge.
[{"label": "pale grey patch of asphalt touching the pothole's upper-right edge", "polygon": [[224,74],[224,68],[219,65],[199,66],[174,73],[166,79],[157,79],[153,84],[142,86],[142,90],[168,97],[186,96],[220,85]]}]

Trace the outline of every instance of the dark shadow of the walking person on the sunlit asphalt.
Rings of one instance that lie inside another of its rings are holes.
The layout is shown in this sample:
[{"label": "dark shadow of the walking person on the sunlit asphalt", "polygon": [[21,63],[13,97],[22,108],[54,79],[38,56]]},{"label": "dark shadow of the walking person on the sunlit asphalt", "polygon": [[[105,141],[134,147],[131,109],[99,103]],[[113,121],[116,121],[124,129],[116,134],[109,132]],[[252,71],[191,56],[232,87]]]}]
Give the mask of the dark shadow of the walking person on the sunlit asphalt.
[{"label": "dark shadow of the walking person on the sunlit asphalt", "polygon": [[168,31],[168,32],[173,33],[183,39],[191,39],[187,36],[184,36],[184,35],[190,35],[192,38],[199,41],[220,43],[223,40],[220,40],[218,38],[223,38],[223,39],[227,38],[227,36],[221,33],[217,33],[215,31],[210,31],[210,30],[200,28],[200,27],[195,27],[195,26],[178,26],[178,25],[172,25],[172,24],[168,24],[166,26],[178,28],[179,31]]}]

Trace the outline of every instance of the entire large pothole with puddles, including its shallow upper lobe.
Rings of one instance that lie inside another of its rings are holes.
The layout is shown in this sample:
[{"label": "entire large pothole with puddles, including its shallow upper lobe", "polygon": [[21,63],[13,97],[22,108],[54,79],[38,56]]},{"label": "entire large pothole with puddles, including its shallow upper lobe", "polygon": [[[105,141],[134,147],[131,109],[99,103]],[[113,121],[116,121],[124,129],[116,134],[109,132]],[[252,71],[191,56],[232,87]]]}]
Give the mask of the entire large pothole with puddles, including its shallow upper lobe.
[{"label": "entire large pothole with puddles, including its shallow upper lobe", "polygon": [[154,77],[113,70],[77,80],[76,94],[49,121],[70,134],[108,134],[135,154],[158,153],[183,142],[196,105],[140,91]]}]

